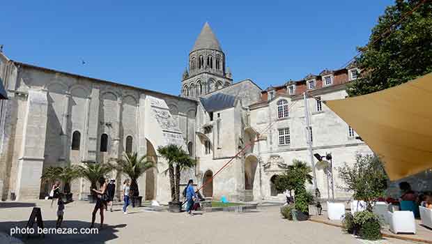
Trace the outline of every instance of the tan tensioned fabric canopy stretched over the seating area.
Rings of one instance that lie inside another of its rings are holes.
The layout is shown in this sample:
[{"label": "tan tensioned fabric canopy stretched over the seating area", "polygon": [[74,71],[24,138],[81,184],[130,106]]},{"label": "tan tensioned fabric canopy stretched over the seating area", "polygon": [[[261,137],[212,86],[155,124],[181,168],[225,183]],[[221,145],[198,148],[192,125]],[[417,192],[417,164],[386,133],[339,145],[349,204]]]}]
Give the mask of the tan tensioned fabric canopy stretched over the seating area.
[{"label": "tan tensioned fabric canopy stretched over the seating area", "polygon": [[325,104],[381,157],[390,180],[432,168],[432,73]]}]

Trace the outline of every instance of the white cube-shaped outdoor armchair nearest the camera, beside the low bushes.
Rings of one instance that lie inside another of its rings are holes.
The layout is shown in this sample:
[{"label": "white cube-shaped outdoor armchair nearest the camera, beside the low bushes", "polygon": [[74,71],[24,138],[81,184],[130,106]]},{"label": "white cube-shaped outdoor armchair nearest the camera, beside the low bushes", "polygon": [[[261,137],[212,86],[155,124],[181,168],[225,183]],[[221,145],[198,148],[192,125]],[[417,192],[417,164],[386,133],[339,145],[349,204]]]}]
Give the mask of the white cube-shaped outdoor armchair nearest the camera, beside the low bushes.
[{"label": "white cube-shaped outdoor armchair nearest the camera, beside the low bushes", "polygon": [[411,211],[387,211],[390,231],[394,234],[415,234],[414,213]]}]

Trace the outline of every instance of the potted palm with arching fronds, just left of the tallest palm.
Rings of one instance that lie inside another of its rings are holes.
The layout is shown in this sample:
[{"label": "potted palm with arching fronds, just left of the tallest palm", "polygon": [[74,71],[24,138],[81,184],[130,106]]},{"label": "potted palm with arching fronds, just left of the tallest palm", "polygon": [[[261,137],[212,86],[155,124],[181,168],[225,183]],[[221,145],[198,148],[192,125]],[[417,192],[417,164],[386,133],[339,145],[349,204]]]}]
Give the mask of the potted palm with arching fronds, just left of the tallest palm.
[{"label": "potted palm with arching fronds, just left of the tallest palm", "polygon": [[138,157],[138,153],[123,153],[123,158],[114,160],[117,165],[116,169],[130,178],[130,200],[132,207],[141,206],[142,196],[139,195],[138,178],[146,172],[147,169],[155,167],[155,162],[148,160],[144,155]]}]

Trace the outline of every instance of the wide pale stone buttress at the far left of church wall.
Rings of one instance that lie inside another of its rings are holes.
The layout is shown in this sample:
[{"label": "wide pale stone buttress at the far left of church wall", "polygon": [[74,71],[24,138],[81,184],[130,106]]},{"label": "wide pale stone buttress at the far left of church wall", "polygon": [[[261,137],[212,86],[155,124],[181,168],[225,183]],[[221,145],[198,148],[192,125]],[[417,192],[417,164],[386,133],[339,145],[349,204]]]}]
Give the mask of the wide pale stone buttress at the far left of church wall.
[{"label": "wide pale stone buttress at the far left of church wall", "polygon": [[24,127],[22,134],[21,156],[18,159],[17,200],[38,199],[40,176],[42,175],[45,134],[47,130],[47,93],[29,90]]}]

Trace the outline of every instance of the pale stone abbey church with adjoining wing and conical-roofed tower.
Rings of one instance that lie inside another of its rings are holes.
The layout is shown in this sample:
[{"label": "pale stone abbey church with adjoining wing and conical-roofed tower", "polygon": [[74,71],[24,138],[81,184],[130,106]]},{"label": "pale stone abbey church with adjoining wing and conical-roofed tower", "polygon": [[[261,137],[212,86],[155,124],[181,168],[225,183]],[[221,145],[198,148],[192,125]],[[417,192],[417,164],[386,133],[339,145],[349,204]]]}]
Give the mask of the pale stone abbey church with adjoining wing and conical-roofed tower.
[{"label": "pale stone abbey church with adjoining wing and conical-roofed tower", "polygon": [[[0,53],[0,80],[9,98],[0,101],[1,199],[47,196],[50,186],[40,176],[49,166],[107,162],[137,151],[157,161],[139,179],[140,195],[166,203],[167,163],[156,149],[171,143],[197,161],[183,172],[182,183],[194,178],[200,186],[236,156],[201,190],[205,197],[283,199],[273,185],[275,176],[294,159],[311,164],[306,105],[313,153],[332,153],[334,167],[353,163],[356,153],[371,153],[321,102],[345,98],[357,68],[323,70],[265,90],[250,79],[233,82],[226,54],[207,23],[187,58],[180,96],[173,96],[13,61]],[[115,172],[110,177],[119,178]],[[327,197],[322,170],[316,170],[316,181]],[[335,185],[341,185],[336,171]],[[79,199],[86,198],[88,188],[84,179],[72,183]],[[335,197],[349,195],[336,187]]]}]

